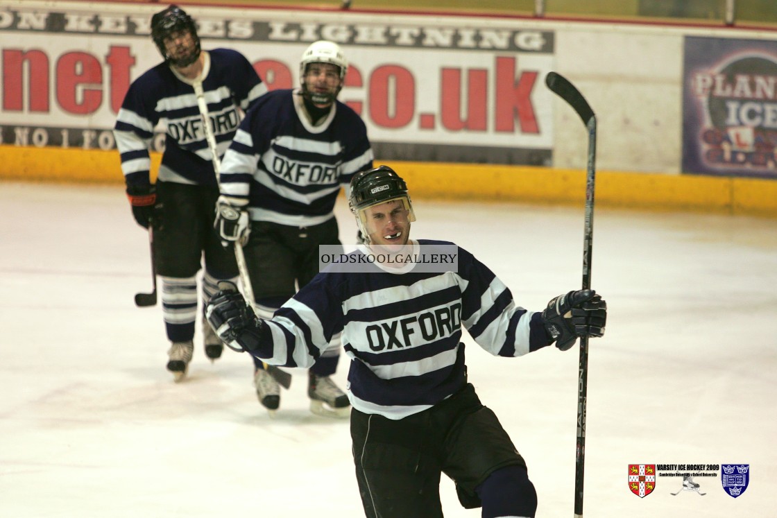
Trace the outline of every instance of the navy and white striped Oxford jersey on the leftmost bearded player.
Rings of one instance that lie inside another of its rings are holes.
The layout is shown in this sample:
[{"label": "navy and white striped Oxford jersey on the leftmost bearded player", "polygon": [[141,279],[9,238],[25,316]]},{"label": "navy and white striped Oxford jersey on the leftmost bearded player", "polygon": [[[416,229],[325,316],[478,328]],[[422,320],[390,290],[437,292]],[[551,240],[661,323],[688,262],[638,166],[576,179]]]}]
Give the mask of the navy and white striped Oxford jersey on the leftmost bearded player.
[{"label": "navy and white striped Oxford jersey on the leftmost bearded player", "polygon": [[[216,139],[223,155],[245,112],[265,92],[265,85],[242,54],[230,49],[203,52],[202,85]],[[136,79],[124,97],[113,134],[127,185],[148,185],[148,148],[158,123],[166,127],[159,179],[166,182],[216,186],[202,116],[193,80],[166,63]]]}]

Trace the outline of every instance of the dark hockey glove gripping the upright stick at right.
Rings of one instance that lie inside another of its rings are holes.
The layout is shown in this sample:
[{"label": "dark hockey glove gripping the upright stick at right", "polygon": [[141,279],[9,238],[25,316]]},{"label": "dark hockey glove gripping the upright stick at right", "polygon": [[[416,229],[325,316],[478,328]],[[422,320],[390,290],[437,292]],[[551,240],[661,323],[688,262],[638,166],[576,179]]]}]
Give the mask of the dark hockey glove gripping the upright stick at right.
[{"label": "dark hockey glove gripping the upright stick at right", "polygon": [[607,303],[594,290],[559,295],[542,311],[545,331],[556,347],[566,351],[578,336],[602,336],[607,322]]}]

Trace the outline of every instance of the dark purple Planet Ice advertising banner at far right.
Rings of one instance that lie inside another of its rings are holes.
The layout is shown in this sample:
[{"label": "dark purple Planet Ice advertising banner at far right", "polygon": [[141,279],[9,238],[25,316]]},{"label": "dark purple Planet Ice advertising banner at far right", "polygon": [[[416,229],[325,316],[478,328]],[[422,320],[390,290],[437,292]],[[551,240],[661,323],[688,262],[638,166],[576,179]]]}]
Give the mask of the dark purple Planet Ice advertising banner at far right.
[{"label": "dark purple Planet Ice advertising banner at far right", "polygon": [[777,41],[685,37],[682,170],[777,178]]}]

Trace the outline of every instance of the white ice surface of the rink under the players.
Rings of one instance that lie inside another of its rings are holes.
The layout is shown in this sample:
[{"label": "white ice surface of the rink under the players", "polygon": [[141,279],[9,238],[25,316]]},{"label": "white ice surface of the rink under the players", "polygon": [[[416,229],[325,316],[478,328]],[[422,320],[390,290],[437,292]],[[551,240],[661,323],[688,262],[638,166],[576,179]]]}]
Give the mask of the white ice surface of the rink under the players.
[{"label": "white ice surface of the rink under the players", "polygon": [[[580,287],[583,207],[415,210],[414,237],[475,253],[524,308]],[[353,242],[343,200],[336,215]],[[304,371],[270,419],[249,357],[211,363],[198,329],[172,382],[161,309],[134,306],[148,239],[121,186],[0,183],[0,219],[0,516],[364,516],[347,421],[308,412]],[[584,515],[775,516],[777,221],[598,207],[592,279],[609,314],[590,346]],[[505,359],[465,339],[537,516],[573,516],[577,347]],[[629,464],[750,464],[749,485],[732,498],[718,469],[639,498]],[[441,494],[445,516],[479,516],[448,478]]]}]

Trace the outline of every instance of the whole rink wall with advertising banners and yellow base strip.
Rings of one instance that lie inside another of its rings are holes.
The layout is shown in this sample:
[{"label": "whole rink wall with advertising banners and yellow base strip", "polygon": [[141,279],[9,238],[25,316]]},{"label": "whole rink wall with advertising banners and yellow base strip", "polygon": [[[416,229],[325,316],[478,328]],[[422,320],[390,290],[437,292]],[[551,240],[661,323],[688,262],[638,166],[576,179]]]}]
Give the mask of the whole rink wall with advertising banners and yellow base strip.
[{"label": "whole rink wall with advertising banners and yellow base strip", "polygon": [[[110,130],[130,82],[160,61],[149,37],[160,9],[0,0],[0,179],[122,182]],[[587,131],[545,87],[557,71],[597,114],[598,205],[777,217],[777,32],[186,10],[204,49],[240,50],[270,89],[297,84],[312,41],[340,43],[350,61],[340,100],[367,123],[376,162],[416,197],[582,203]]]}]

